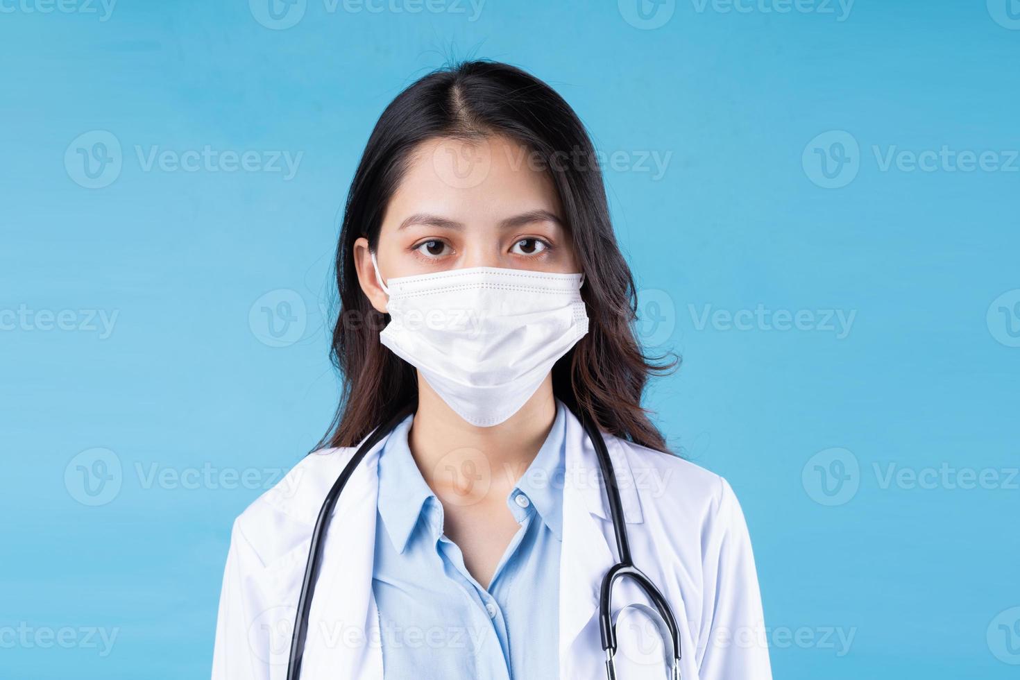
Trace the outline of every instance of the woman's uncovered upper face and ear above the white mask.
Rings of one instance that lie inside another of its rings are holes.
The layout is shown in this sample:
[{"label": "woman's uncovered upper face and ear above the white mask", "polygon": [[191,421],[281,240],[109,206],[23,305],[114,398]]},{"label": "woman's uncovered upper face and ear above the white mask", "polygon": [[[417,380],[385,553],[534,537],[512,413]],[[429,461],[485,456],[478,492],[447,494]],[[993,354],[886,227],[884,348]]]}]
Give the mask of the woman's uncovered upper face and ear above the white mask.
[{"label": "woman's uncovered upper face and ear above the white mask", "polygon": [[[464,267],[578,272],[556,188],[529,153],[504,137],[416,149],[382,217],[382,280]],[[355,242],[354,263],[361,290],[385,313],[367,239]]]}]

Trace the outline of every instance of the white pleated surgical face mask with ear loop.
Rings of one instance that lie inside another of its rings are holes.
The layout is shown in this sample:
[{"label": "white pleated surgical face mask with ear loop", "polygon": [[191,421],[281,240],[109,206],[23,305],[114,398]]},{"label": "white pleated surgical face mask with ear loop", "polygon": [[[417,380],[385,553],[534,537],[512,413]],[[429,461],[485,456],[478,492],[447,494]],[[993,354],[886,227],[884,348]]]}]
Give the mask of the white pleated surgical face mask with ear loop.
[{"label": "white pleated surgical face mask with ear loop", "polygon": [[583,274],[471,267],[382,283],[391,321],[379,341],[417,368],[464,420],[498,425],[588,332]]}]

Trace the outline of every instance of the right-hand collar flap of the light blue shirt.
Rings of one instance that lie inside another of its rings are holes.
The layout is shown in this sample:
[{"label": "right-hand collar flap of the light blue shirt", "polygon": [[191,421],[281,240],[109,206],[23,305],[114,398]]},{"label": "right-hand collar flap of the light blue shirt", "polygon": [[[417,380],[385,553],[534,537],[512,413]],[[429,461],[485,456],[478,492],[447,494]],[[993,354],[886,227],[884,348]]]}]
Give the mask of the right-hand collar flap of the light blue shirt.
[{"label": "right-hand collar flap of the light blue shirt", "polygon": [[556,401],[556,420],[549,435],[527,470],[517,480],[510,503],[519,491],[527,495],[542,521],[558,540],[563,540],[564,442],[566,439],[566,407]]}]

